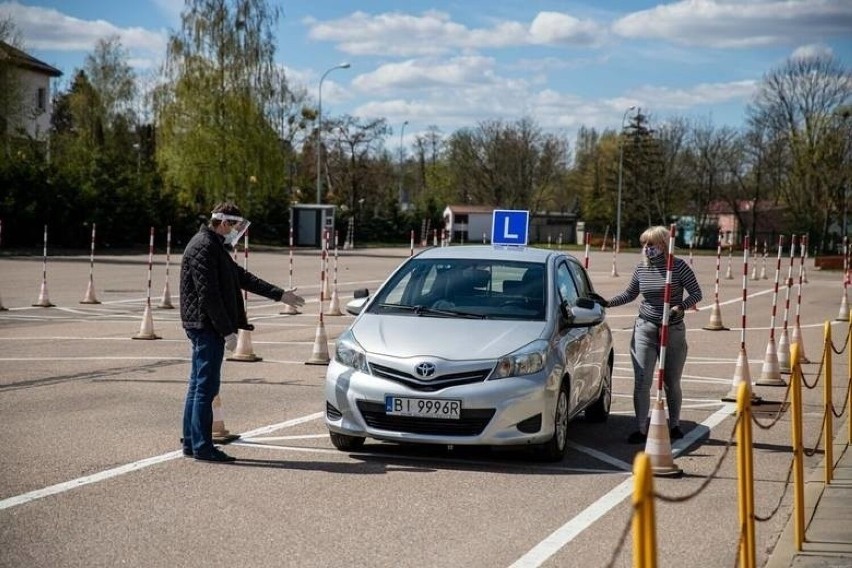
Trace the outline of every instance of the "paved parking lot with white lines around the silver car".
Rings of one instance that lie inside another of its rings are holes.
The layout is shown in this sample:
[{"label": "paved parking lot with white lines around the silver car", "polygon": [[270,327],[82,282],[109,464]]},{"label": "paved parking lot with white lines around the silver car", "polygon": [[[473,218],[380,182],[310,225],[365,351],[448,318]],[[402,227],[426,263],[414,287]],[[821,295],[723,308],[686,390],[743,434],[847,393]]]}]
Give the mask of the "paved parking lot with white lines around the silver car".
[{"label": "paved parking lot with white lines around the silver car", "polygon": [[[356,288],[374,290],[407,249],[346,251],[340,257],[343,302]],[[589,271],[611,297],[626,286],[635,252],[593,251]],[[152,304],[160,300],[165,258],[154,266]],[[775,263],[766,279],[748,280],[746,347],[760,375],[769,337]],[[178,298],[180,257],[171,259]],[[242,262],[242,258],[240,259]],[[725,260],[726,262],[726,260]],[[752,260],[754,262],[754,260]],[[758,263],[763,262],[757,259]],[[782,280],[788,262],[782,263]],[[798,273],[799,261],[796,261]],[[689,357],[681,426],[673,444],[681,479],[655,479],[668,497],[657,504],[661,566],[730,567],[740,535],[736,462],[728,451],[731,389],[740,351],[742,258],[720,281],[728,331],[702,329],[713,303],[715,256],[696,256],[700,310],[687,316]],[[758,264],[758,270],[760,270]],[[79,301],[88,256],[52,257],[52,308],[32,307],[42,278],[40,257],[0,258],[0,565],[2,566],[631,566],[627,532],[632,460],[642,446],[625,443],[633,428],[633,373],[628,344],[638,300],[608,310],[616,345],[613,413],[605,424],[571,424],[568,457],[558,464],[518,450],[400,446],[367,441],[362,451],[331,445],[323,424],[325,367],[305,365],[317,327],[320,260],[296,255],[294,279],[307,303],[299,315],[249,298],[254,351],[262,361],[226,362],[221,397],[234,464],[181,456],[178,438],[189,346],[177,309],[153,310],[159,340],[134,341],[146,299],[147,255],[96,259],[101,304]],[[286,252],[252,252],[249,270],[286,285]],[[823,347],[823,325],[838,313],[838,272],[807,264],[801,329],[809,381]],[[796,309],[791,290],[791,312]],[[778,297],[779,326],[785,288]],[[794,313],[790,314],[790,325]],[[351,316],[325,317],[329,349]],[[832,322],[842,347],[846,322]],[[472,339],[475,340],[475,339]],[[847,356],[834,362],[834,398],[842,404]],[[786,377],[785,377],[786,378]],[[767,409],[785,389],[756,387]],[[822,389],[805,392],[805,446],[822,421]],[[774,411],[767,410],[765,422]],[[835,424],[839,429],[843,421]],[[790,514],[789,416],[755,429],[758,565]],[[810,468],[821,459],[808,458]],[[706,483],[708,476],[712,481]],[[703,487],[706,485],[706,487]],[[703,489],[702,489],[703,487]],[[780,507],[775,512],[776,506]]]}]

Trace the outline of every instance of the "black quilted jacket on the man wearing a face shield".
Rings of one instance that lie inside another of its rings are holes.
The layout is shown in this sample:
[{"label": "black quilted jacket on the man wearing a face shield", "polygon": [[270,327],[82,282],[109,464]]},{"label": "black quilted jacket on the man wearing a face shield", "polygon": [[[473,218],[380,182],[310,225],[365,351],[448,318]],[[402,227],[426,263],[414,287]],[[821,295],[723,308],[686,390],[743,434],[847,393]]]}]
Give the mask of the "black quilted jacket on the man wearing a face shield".
[{"label": "black quilted jacket on the man wearing a face shield", "polygon": [[225,238],[202,227],[183,251],[180,318],[185,329],[215,329],[223,337],[251,329],[240,290],[280,301],[284,290],[246,271],[225,249]]}]

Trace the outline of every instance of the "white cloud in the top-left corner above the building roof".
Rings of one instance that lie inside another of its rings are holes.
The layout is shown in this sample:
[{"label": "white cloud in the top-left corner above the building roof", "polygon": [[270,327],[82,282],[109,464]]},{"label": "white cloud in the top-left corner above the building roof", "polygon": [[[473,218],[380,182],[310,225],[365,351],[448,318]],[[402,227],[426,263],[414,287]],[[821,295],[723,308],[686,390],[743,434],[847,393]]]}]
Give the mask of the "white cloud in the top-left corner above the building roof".
[{"label": "white cloud in the top-left corner above the building roof", "polygon": [[55,51],[91,51],[99,39],[118,35],[124,47],[162,53],[166,34],[139,27],[119,28],[104,20],[81,20],[58,10],[25,6],[17,2],[0,4],[0,15],[10,17],[24,36],[27,48]]}]

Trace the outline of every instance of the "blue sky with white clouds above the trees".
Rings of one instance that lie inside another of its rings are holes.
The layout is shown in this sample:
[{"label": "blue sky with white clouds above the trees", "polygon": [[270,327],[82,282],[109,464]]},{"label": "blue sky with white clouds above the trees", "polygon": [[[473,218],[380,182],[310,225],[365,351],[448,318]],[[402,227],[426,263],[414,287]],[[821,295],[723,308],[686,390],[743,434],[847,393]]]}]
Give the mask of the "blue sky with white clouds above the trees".
[{"label": "blue sky with white clouds above the trees", "polygon": [[[275,3],[275,0],[272,0]],[[530,116],[573,143],[641,107],[738,127],[762,75],[827,52],[852,65],[852,0],[292,0],[278,2],[277,62],[323,114],[384,117],[405,145]],[[118,34],[151,81],[180,0],[0,0],[25,48],[64,79]],[[398,138],[397,138],[398,140]],[[395,147],[398,142],[389,142]]]}]

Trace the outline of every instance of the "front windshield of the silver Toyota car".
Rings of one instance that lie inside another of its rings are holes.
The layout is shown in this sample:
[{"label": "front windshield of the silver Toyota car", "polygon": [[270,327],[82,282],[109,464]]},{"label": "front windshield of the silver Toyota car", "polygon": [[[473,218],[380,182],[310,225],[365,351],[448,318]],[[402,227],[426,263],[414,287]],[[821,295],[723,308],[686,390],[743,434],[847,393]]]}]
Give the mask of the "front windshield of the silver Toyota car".
[{"label": "front windshield of the silver Toyota car", "polygon": [[544,320],[545,266],[479,259],[412,259],[369,312],[411,317]]}]

